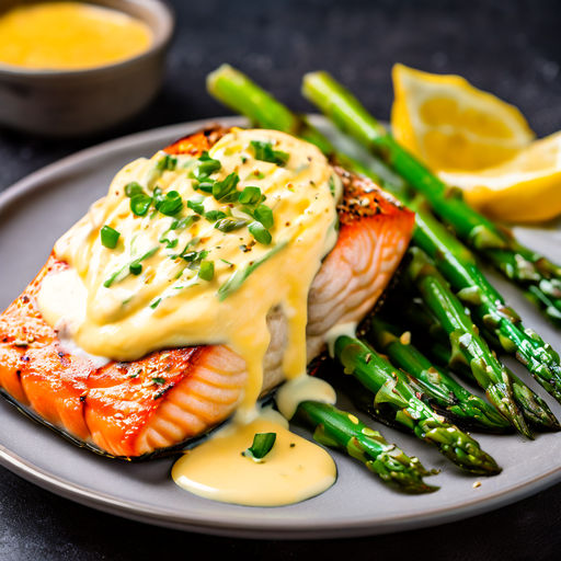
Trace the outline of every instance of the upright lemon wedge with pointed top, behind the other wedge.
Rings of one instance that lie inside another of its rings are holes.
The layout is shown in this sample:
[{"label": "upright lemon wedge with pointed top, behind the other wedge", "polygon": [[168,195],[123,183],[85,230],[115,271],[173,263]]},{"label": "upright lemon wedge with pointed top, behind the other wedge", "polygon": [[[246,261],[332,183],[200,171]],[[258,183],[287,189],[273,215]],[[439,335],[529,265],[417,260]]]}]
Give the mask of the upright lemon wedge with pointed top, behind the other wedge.
[{"label": "upright lemon wedge with pointed top, behind the other wedge", "polygon": [[396,65],[396,139],[434,171],[473,171],[515,157],[534,138],[522,113],[459,76]]}]

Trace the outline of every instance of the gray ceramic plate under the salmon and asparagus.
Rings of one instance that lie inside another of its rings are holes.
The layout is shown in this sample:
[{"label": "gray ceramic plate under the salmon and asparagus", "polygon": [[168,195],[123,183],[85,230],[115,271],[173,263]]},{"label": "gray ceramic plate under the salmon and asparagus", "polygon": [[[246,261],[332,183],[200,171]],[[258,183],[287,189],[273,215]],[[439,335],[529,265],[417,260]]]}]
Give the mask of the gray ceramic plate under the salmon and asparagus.
[{"label": "gray ceramic plate under the salmon and asparagus", "polygon": [[[240,119],[219,119],[243,124]],[[105,194],[126,162],[150,156],[170,141],[201,127],[190,123],[134,135],[84,150],[49,165],[0,195],[0,309],[4,309],[45,262],[54,241],[88,205]],[[318,119],[320,126],[324,122]],[[520,230],[520,237],[560,260],[561,231]],[[496,280],[528,327],[561,347],[556,332],[515,288]],[[524,369],[511,364],[525,379]],[[537,386],[530,381],[534,388]],[[561,419],[561,408],[545,394]],[[382,485],[362,465],[333,453],[335,485],[320,496],[279,508],[215,503],[191,495],[170,479],[171,459],[126,463],[98,457],[67,443],[0,400],[0,462],[23,478],[80,503],[138,520],[238,537],[333,538],[402,530],[450,522],[496,508],[561,480],[561,436],[535,442],[512,436],[480,436],[484,449],[503,466],[501,476],[481,479],[460,473],[428,445],[383,428],[425,466],[442,468],[432,482],[440,491],[408,496]]]}]

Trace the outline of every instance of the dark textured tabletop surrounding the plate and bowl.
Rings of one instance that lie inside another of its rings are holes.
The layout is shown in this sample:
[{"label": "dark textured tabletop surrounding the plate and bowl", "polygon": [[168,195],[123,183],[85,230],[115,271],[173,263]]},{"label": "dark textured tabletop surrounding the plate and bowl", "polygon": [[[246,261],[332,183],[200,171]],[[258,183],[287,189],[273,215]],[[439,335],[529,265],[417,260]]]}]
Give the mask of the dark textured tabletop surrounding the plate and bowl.
[{"label": "dark textured tabletop surrounding the plate and bowl", "polygon": [[[557,1],[173,2],[178,33],[164,88],[135,121],[96,138],[53,141],[0,129],[0,190],[80,148],[161,125],[225,114],[204,90],[229,61],[300,111],[307,70],[324,68],[378,116],[396,61],[458,72],[518,105],[538,135],[561,128],[561,10]],[[373,482],[373,484],[376,484]],[[432,529],[352,541],[204,537],[123,520],[59,499],[0,468],[0,559],[559,559],[561,485],[494,513]]]}]

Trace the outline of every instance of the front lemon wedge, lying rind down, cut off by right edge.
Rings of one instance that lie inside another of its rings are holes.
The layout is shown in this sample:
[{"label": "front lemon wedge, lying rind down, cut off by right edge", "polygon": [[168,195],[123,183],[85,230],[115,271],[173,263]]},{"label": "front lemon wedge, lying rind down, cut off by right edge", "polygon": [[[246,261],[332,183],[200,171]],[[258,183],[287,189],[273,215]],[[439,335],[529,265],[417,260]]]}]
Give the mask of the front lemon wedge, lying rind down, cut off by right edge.
[{"label": "front lemon wedge, lying rind down, cut off by right edge", "polygon": [[561,131],[531,142],[505,163],[477,173],[440,172],[481,213],[508,222],[536,222],[561,214]]}]

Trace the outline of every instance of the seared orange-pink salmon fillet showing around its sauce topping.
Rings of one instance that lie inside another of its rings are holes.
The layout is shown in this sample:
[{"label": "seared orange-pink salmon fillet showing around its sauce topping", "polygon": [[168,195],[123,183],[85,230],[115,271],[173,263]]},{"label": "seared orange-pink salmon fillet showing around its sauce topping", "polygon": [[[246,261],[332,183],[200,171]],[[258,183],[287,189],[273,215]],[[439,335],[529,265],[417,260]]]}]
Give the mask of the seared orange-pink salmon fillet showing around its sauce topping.
[{"label": "seared orange-pink salmon fillet showing around its sauce topping", "polygon": [[[165,148],[201,156],[227,130],[206,129]],[[339,239],[308,299],[307,358],[323,351],[336,323],[360,321],[380,297],[408,247],[414,215],[371,181],[334,165],[343,182]],[[35,297],[43,279],[68,265],[51,254],[35,279],[0,316],[0,387],[50,425],[115,457],[173,447],[226,420],[247,381],[244,360],[225,345],[157,351],[96,368],[65,353]],[[271,344],[263,392],[283,381],[286,321],[267,317]]]}]

